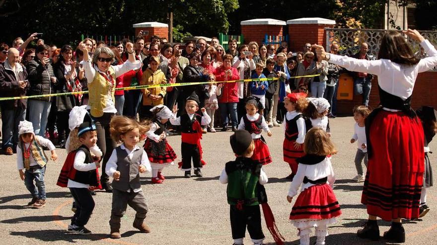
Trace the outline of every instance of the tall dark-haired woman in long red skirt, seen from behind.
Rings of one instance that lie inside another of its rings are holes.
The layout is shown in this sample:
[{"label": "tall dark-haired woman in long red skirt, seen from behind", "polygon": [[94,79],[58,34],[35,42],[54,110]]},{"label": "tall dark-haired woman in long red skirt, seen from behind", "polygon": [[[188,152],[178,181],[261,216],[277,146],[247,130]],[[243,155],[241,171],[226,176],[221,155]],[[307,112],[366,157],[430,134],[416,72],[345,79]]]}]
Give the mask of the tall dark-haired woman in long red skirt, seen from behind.
[{"label": "tall dark-haired woman in long red skirt, seen from behind", "polygon": [[405,37],[388,31],[381,40],[378,60],[355,59],[329,54],[314,45],[317,55],[350,71],[378,77],[380,106],[366,118],[368,168],[361,202],[368,221],[358,237],[378,240],[376,217],[392,221],[384,238],[405,241],[401,218],[419,217],[419,200],[424,173],[424,139],[420,120],[411,109],[411,95],[419,72],[437,65],[437,50],[416,30],[404,34],[419,42],[428,57],[414,56]]}]

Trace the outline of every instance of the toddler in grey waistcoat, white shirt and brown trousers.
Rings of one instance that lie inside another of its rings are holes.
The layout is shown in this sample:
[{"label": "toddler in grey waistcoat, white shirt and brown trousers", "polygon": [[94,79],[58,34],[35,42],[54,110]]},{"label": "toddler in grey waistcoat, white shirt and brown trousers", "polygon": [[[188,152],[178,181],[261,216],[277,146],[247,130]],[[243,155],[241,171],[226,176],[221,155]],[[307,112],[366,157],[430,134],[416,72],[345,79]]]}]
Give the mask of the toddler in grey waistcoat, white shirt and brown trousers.
[{"label": "toddler in grey waistcoat, white shirt and brown trousers", "polygon": [[143,123],[125,116],[114,116],[110,122],[112,139],[122,142],[112,151],[105,169],[106,174],[114,178],[109,220],[112,239],[121,238],[120,221],[128,204],[137,212],[134,228],[140,232],[150,232],[150,228],[144,223],[148,208],[141,189],[140,173],[150,172],[151,167],[146,151],[137,146],[140,135],[145,134],[148,129]]}]

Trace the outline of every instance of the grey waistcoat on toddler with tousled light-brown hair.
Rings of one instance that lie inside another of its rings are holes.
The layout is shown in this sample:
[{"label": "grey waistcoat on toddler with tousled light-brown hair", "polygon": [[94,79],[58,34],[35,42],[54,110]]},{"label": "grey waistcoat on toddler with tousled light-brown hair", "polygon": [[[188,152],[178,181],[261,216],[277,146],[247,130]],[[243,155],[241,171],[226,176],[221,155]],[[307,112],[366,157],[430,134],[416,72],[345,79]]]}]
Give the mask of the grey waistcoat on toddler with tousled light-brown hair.
[{"label": "grey waistcoat on toddler with tousled light-brown hair", "polygon": [[116,147],[115,150],[117,152],[117,171],[120,171],[120,180],[113,181],[112,188],[123,192],[141,188],[138,168],[141,164],[143,149],[135,149],[131,160],[128,157],[128,152],[120,146]]}]

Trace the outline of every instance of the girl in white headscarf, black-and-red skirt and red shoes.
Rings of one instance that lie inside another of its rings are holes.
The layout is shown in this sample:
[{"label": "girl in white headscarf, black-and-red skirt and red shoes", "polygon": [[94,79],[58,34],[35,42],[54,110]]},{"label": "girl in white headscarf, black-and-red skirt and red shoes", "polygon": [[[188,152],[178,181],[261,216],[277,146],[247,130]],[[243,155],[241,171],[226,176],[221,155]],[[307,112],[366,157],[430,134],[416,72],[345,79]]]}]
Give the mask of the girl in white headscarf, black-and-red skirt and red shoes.
[{"label": "girl in white headscarf, black-and-red skirt and red shoes", "polygon": [[152,183],[162,184],[165,180],[162,169],[165,166],[173,165],[173,161],[177,157],[166,140],[167,127],[165,123],[171,117],[171,110],[165,105],[157,105],[151,108],[150,111],[153,113],[154,118],[146,133],[147,139],[144,150],[152,168]]}]

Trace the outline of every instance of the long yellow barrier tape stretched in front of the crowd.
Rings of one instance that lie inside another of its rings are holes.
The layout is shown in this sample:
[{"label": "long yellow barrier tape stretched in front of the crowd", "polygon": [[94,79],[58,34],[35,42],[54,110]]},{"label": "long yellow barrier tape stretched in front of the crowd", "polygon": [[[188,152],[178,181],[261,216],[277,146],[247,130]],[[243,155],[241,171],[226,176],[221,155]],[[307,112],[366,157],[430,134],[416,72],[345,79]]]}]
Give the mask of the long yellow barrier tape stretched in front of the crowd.
[{"label": "long yellow barrier tape stretched in front of the crowd", "polygon": [[[302,77],[316,77],[320,74],[315,75],[305,75],[305,76],[294,76],[291,78],[302,78]],[[120,90],[137,90],[137,89],[150,89],[150,88],[159,88],[159,87],[179,87],[179,86],[189,86],[189,85],[200,85],[200,84],[210,84],[210,83],[235,83],[235,82],[256,82],[256,81],[274,81],[279,78],[254,78],[254,79],[242,79],[242,80],[232,80],[232,81],[213,81],[213,82],[193,82],[193,83],[169,83],[169,84],[155,84],[155,85],[140,85],[140,86],[132,86],[132,87],[123,87],[123,88],[115,88],[115,91]],[[79,94],[88,94],[88,91],[79,91],[79,92],[68,92],[68,93],[58,93],[58,94],[50,94],[50,95],[34,95],[34,96],[17,96],[17,97],[5,97],[0,98],[0,101],[3,100],[12,100],[12,99],[26,99],[26,98],[47,98],[47,97],[55,97],[55,96],[65,96],[65,95],[79,95]]]}]

